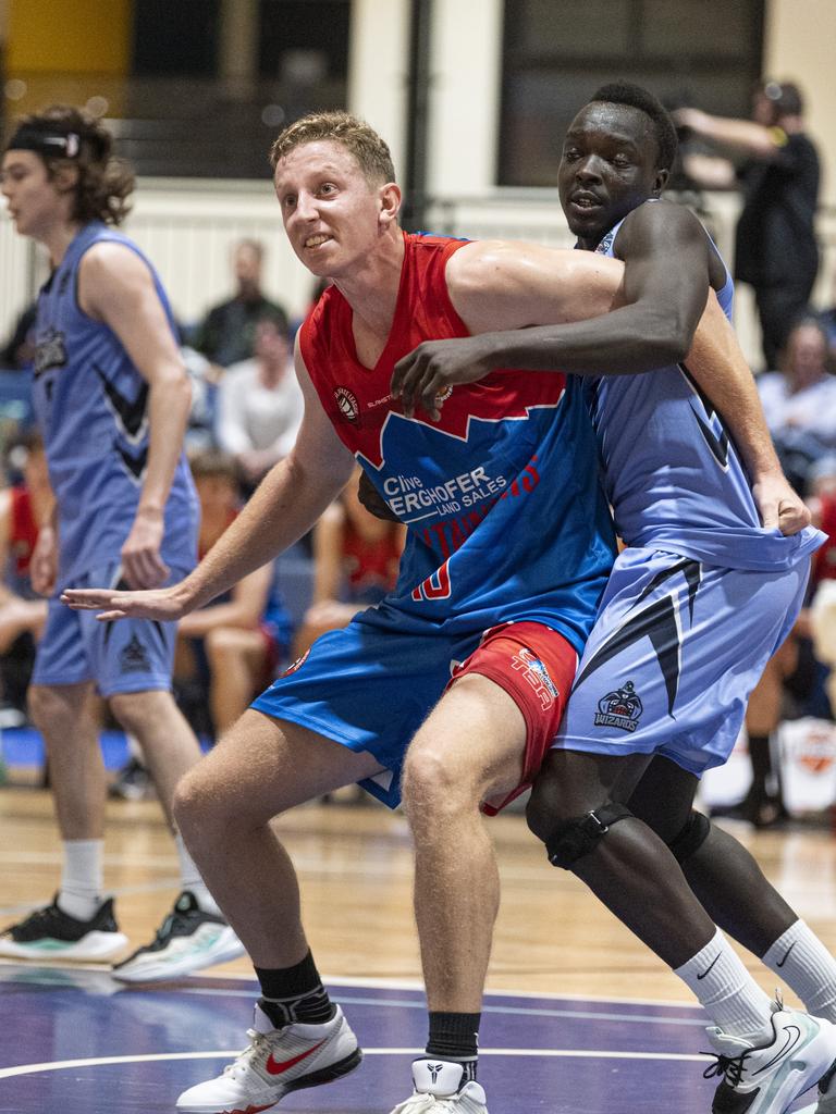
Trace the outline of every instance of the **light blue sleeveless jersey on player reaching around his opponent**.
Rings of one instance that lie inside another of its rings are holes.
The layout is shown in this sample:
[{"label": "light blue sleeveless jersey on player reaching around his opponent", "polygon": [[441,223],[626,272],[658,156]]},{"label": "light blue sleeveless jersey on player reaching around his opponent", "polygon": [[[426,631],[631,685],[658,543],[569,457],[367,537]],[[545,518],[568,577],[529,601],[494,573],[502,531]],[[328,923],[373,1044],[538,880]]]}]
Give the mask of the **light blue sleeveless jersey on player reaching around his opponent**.
[{"label": "light blue sleeveless jersey on player reaching around his opponent", "polygon": [[[614,257],[621,224],[597,252]],[[726,274],[717,296],[730,317],[733,284]],[[785,538],[761,527],[729,433],[682,365],[586,380],[586,389],[604,487],[628,546],[772,573],[818,547],[811,528]]]}]

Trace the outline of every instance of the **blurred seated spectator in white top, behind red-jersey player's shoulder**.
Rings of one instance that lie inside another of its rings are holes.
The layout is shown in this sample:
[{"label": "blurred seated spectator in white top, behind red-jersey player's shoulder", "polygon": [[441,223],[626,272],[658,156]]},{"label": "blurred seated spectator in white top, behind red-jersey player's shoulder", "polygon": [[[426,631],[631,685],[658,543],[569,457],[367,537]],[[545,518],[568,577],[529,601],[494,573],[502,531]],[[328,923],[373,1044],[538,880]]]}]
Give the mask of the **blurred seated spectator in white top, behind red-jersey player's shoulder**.
[{"label": "blurred seated spectator in white top, behind red-jersey player's shoulder", "polygon": [[286,319],[263,317],[255,354],[229,368],[217,389],[217,443],[249,490],[293,448],[303,410]]}]

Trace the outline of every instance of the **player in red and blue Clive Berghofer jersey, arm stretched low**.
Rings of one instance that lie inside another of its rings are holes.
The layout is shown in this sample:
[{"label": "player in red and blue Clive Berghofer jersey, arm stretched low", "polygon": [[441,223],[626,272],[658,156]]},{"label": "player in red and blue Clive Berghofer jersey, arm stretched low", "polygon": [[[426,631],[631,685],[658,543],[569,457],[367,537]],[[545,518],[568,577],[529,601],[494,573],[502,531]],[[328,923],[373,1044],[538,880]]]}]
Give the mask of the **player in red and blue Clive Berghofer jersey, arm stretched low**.
[{"label": "player in red and blue Clive Berghofer jersey, arm stretched low", "polygon": [[[478,805],[514,795],[551,744],[613,538],[580,381],[512,365],[408,411],[389,384],[422,339],[607,310],[622,266],[406,236],[388,149],[344,114],[291,125],[273,157],[291,244],[333,280],[298,343],[305,414],[297,446],[181,584],[64,598],[106,608],[101,619],[178,617],[309,529],[361,461],[409,527],[396,589],[320,638],[177,793],[188,847],[262,988],[250,1048],[186,1091],[178,1108],[264,1110],[358,1064],[269,822],[362,781],[388,803],[402,792],[416,844],[430,1042],[397,1111],[485,1114],[476,1030],[498,885]],[[647,866],[659,920],[688,936],[704,912],[687,887],[669,896],[663,856]]]}]

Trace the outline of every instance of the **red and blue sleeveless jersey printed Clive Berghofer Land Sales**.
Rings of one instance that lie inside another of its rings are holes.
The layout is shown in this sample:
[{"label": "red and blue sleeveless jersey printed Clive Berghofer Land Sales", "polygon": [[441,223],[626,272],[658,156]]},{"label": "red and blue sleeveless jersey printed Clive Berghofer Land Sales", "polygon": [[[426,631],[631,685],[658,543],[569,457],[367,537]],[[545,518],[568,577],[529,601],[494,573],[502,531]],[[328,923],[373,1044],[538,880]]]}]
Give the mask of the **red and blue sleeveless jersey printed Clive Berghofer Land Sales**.
[{"label": "red and blue sleeveless jersey printed Clive Berghofer Land Sales", "polygon": [[503,369],[453,388],[441,417],[405,417],[389,389],[425,340],[467,336],[447,292],[461,241],[405,235],[395,319],[373,369],[357,359],[352,310],[329,287],[301,352],[322,405],[408,526],[395,590],[368,622],[446,636],[534,620],[581,649],[614,556],[595,440],[579,382]]}]

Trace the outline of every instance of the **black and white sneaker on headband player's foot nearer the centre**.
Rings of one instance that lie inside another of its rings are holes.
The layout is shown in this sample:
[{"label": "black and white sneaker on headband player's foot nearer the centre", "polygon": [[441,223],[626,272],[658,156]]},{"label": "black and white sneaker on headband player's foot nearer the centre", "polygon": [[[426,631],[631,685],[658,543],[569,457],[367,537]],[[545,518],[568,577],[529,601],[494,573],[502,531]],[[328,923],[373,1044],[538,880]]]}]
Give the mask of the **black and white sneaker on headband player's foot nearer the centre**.
[{"label": "black and white sneaker on headband player's foot nearer the centre", "polygon": [[223,917],[204,912],[184,890],[152,944],[113,969],[121,983],[158,983],[243,956],[244,947]]}]

